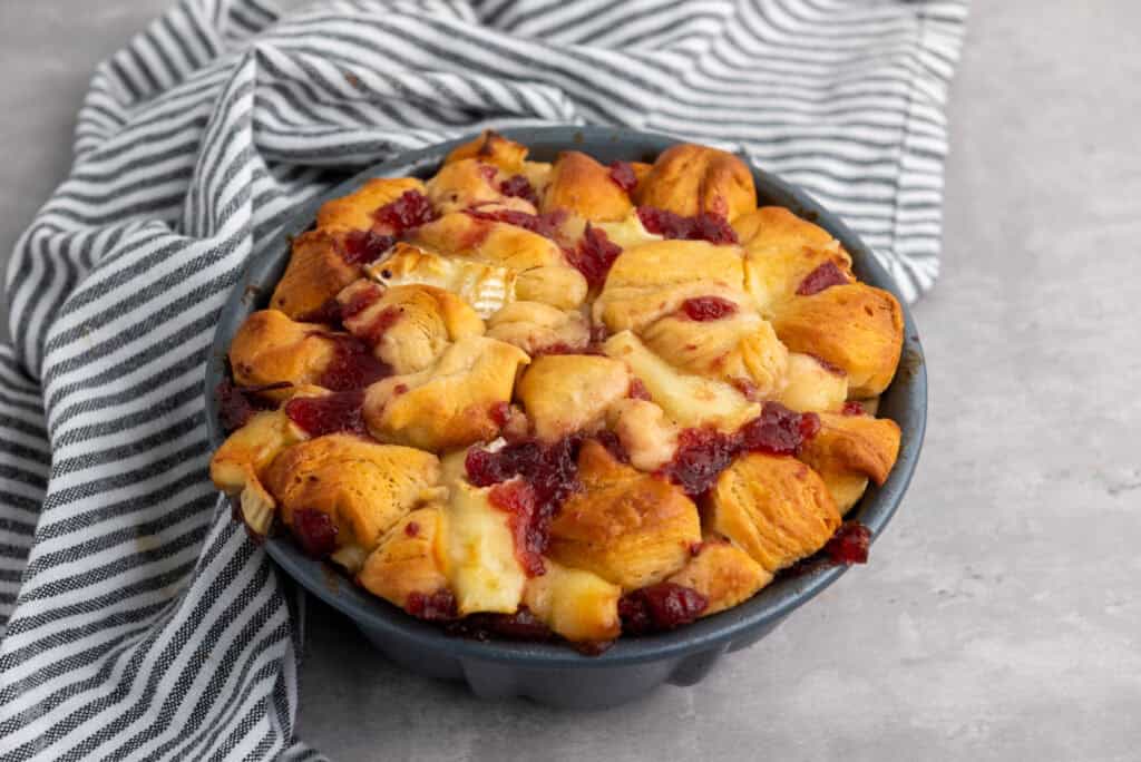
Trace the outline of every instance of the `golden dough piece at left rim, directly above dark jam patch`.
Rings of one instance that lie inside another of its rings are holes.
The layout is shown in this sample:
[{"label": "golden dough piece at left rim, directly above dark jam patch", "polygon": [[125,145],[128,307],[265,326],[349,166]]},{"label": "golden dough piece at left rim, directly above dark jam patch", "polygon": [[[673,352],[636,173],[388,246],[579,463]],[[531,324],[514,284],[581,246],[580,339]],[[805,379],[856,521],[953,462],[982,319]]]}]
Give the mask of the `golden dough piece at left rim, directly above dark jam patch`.
[{"label": "golden dough piece at left rim, directly above dark jam patch", "polygon": [[[234,334],[229,344],[229,365],[234,381],[242,387],[273,383],[301,386],[317,383],[333,359],[335,341],[325,326],[296,323],[285,313],[264,309],[253,313]],[[269,391],[268,397],[284,399],[289,390]]]}]

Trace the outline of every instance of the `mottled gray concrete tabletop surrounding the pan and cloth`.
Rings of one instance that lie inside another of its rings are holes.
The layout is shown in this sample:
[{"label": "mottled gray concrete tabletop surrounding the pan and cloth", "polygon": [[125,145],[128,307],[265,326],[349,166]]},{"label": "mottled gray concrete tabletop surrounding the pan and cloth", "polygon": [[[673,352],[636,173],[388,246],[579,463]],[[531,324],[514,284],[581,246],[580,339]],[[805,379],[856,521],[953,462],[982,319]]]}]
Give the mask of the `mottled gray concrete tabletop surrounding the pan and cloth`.
[{"label": "mottled gray concrete tabletop surrounding the pan and cloth", "polygon": [[[65,172],[92,64],[162,5],[0,0],[5,248]],[[701,686],[605,714],[407,675],[315,605],[305,738],[335,760],[1141,759],[1141,6],[974,6],[916,309],[928,443],[872,564]]]}]

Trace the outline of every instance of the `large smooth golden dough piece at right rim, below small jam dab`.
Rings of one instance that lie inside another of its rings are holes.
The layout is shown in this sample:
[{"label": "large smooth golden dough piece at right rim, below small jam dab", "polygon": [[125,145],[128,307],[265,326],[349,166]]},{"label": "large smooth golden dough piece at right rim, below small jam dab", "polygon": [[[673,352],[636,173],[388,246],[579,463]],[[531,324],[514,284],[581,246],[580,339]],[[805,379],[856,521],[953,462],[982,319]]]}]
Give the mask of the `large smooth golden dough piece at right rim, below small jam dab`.
[{"label": "large smooth golden dough piece at right rim, below small jam dab", "polygon": [[791,299],[772,326],[792,351],[842,368],[848,394],[856,398],[874,397],[888,388],[904,346],[899,302],[863,283]]}]

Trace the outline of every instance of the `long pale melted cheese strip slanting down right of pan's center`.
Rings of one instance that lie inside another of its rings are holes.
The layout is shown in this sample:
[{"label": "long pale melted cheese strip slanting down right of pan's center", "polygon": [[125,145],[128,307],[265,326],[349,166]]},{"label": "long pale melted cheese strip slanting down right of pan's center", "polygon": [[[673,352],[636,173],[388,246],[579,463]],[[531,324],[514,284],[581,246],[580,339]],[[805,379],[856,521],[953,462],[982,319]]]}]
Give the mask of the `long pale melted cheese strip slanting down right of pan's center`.
[{"label": "long pale melted cheese strip slanting down right of pan's center", "polygon": [[760,405],[745,399],[728,383],[681,373],[629,331],[610,337],[602,351],[629,365],[646,386],[654,403],[682,427],[711,425],[722,431],[736,431],[761,412]]}]

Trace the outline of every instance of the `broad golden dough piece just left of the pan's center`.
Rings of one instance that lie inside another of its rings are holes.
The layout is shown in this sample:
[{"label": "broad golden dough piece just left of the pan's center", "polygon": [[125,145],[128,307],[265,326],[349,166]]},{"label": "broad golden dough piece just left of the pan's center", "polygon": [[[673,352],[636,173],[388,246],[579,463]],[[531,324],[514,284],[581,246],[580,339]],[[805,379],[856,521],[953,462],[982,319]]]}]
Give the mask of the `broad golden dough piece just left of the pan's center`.
[{"label": "broad golden dough piece just left of the pan's center", "polygon": [[528,362],[521,349],[502,341],[461,339],[431,367],[369,387],[365,423],[381,441],[434,452],[494,439],[516,373]]}]

